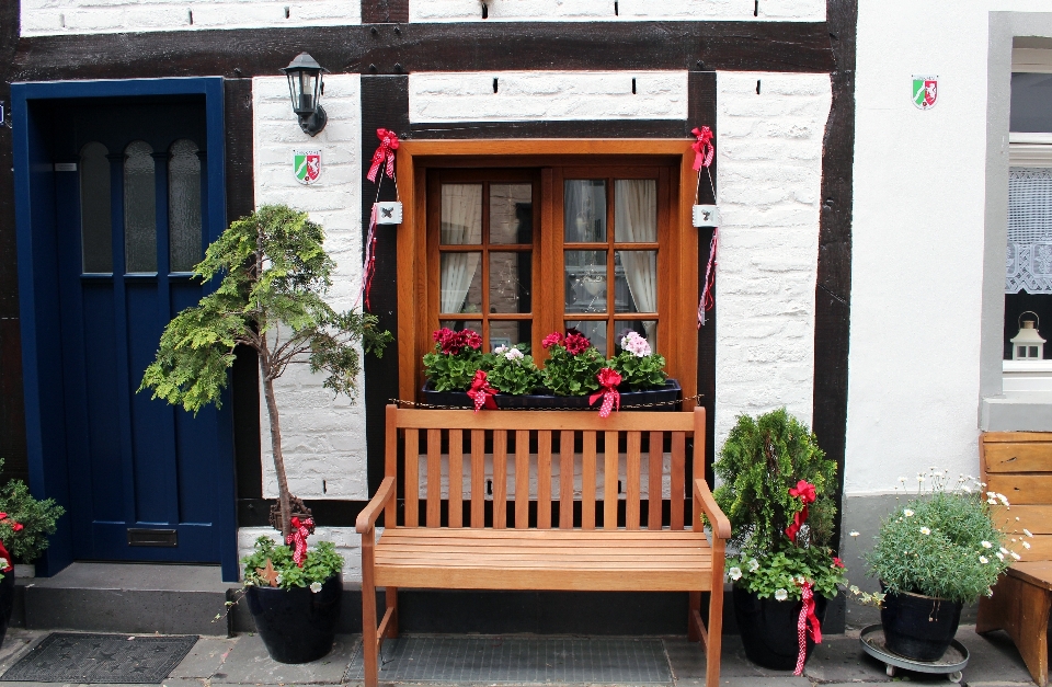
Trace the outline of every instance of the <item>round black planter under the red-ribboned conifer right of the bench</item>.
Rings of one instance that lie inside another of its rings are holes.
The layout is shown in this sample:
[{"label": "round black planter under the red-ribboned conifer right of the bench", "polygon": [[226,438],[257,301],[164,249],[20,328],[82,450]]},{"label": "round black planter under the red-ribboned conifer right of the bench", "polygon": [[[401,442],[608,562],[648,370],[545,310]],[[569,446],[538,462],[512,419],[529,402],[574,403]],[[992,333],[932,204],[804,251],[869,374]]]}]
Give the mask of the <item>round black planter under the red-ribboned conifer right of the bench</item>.
[{"label": "round black planter under the red-ribboned conifer right of the bench", "polygon": [[[825,621],[824,596],[815,595],[814,615],[819,623]],[[759,598],[754,593],[734,587],[734,617],[742,636],[745,656],[757,665],[773,671],[791,671],[797,667],[800,643],[797,621],[803,602],[779,602]],[[814,641],[807,638],[807,657],[811,657]]]}]

